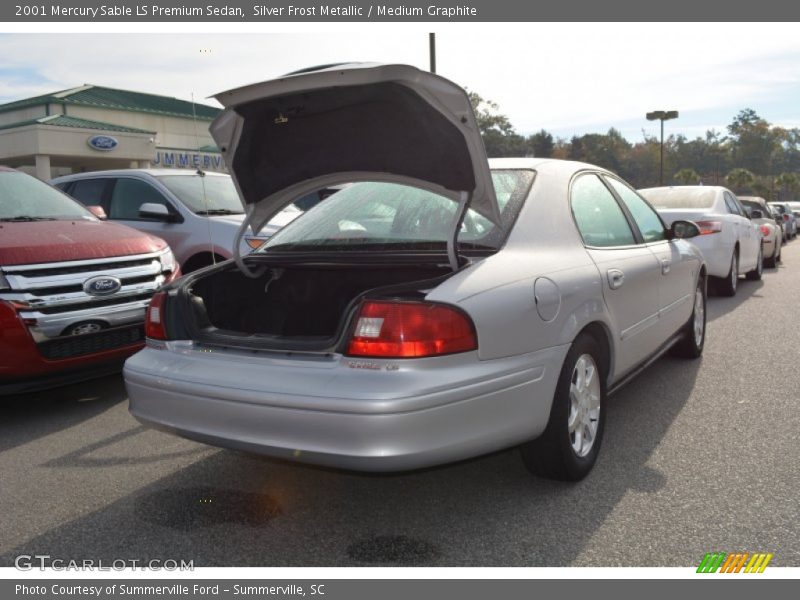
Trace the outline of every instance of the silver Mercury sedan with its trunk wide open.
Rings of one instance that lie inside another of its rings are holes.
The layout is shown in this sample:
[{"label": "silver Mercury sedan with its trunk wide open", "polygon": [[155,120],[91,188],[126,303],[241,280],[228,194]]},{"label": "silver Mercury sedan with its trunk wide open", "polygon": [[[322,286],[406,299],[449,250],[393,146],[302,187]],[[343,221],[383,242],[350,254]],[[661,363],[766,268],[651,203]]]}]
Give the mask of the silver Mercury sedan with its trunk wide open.
[{"label": "silver Mercury sedan with its trunk wide open", "polygon": [[580,479],[606,394],[674,347],[697,357],[706,271],[615,175],[487,160],[464,90],[347,65],[217,97],[212,125],[258,231],[350,183],[257,252],[151,303],[130,410],[179,435],[405,470],[520,444]]}]

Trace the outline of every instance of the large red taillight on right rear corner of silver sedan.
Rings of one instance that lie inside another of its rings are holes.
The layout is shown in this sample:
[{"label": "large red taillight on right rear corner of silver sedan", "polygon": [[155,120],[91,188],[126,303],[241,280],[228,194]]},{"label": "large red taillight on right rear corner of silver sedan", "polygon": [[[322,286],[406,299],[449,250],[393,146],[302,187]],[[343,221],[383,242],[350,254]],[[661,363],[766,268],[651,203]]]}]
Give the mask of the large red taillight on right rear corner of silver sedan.
[{"label": "large red taillight on right rear corner of silver sedan", "polygon": [[477,347],[472,321],[457,308],[428,302],[368,300],[358,312],[347,353],[419,358]]}]

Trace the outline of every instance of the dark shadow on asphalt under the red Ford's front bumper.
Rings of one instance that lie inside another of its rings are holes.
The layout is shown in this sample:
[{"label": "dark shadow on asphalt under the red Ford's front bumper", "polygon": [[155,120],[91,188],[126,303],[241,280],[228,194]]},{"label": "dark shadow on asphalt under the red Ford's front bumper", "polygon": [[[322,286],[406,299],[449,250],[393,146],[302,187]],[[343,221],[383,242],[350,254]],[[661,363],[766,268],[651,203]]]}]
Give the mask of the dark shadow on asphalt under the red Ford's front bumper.
[{"label": "dark shadow on asphalt under the red Ford's front bumper", "polygon": [[127,398],[120,374],[0,397],[0,452],[74,427]]}]

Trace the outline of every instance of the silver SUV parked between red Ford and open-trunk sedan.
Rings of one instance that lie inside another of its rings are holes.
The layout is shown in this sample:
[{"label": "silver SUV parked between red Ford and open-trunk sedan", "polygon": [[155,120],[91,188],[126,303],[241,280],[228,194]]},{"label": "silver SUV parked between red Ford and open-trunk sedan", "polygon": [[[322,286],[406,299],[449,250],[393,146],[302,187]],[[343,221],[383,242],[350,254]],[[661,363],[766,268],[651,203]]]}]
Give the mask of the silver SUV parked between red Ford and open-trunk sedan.
[{"label": "silver SUV parked between red Ford and open-trunk sedan", "polygon": [[[111,221],[169,243],[184,273],[234,256],[244,209],[230,175],[183,169],[124,169],[75,173],[50,182],[86,206],[99,206]],[[239,252],[261,246],[303,214],[290,204]]]}]

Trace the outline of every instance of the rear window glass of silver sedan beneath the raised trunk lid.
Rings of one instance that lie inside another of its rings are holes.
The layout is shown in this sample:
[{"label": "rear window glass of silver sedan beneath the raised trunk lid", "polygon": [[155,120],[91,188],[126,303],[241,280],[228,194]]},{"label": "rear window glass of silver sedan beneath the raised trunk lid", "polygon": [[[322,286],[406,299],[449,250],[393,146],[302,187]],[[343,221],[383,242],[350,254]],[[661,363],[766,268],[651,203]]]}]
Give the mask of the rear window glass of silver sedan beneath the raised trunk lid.
[{"label": "rear window glass of silver sedan beneath the raised trunk lid", "polygon": [[[467,211],[458,235],[462,249],[498,249],[533,182],[533,171],[498,170],[492,181],[502,228]],[[359,182],[345,187],[276,233],[263,251],[444,250],[457,204],[416,187]]]}]

